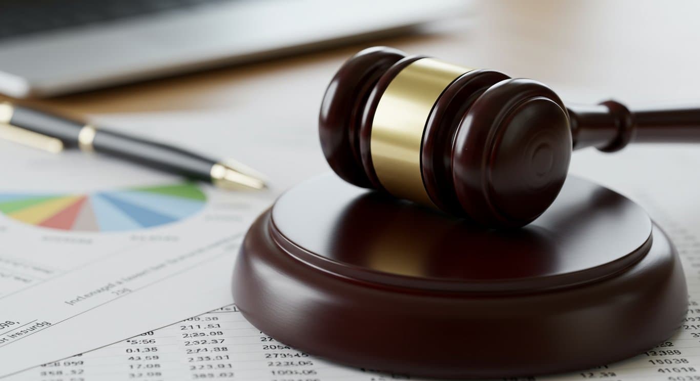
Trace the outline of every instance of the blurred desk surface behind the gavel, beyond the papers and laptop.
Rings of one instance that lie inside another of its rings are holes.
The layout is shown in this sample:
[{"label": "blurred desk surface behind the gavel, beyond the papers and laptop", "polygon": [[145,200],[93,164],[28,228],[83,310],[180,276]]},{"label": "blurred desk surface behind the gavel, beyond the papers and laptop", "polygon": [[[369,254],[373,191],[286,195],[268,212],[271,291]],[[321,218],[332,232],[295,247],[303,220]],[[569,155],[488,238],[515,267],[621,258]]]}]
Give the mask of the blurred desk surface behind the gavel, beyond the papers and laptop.
[{"label": "blurred desk surface behind the gavel, beyond the papers and laptop", "polygon": [[32,102],[76,114],[221,110],[269,92],[320,102],[344,59],[391,45],[540,80],[568,101],[688,103],[700,101],[698,14],[690,1],[477,1],[413,36]]}]

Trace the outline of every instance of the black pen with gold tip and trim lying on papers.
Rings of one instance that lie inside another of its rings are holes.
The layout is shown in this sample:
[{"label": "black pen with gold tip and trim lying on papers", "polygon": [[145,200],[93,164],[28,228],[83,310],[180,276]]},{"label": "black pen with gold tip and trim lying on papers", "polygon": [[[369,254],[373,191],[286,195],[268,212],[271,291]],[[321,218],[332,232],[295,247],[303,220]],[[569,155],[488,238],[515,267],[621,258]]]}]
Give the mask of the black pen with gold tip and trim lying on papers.
[{"label": "black pen with gold tip and trim lying on papers", "polygon": [[224,189],[264,189],[265,182],[235,168],[181,148],[98,129],[41,110],[0,102],[0,137],[50,152],[80,148],[120,157]]}]

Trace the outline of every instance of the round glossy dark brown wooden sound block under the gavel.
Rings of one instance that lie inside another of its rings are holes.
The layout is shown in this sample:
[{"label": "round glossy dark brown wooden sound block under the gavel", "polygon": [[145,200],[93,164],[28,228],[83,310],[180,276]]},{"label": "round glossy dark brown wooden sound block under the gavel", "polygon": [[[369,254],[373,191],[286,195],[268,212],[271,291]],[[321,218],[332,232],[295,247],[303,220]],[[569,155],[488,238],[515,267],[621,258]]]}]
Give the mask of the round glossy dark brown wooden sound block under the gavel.
[{"label": "round glossy dark brown wooden sound block under the gavel", "polygon": [[666,340],[687,308],[666,235],[572,176],[532,224],[489,231],[321,175],[255,221],[233,295],[281,343],[431,378],[608,364]]}]

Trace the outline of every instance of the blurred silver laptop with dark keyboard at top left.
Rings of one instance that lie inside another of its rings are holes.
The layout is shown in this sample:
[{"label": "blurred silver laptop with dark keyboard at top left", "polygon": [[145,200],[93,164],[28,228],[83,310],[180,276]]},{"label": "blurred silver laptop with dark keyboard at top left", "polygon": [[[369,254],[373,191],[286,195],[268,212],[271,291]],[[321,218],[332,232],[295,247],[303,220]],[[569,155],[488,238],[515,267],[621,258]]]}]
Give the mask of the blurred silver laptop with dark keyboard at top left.
[{"label": "blurred silver laptop with dark keyboard at top left", "polygon": [[52,96],[403,31],[460,0],[0,0],[0,93]]}]

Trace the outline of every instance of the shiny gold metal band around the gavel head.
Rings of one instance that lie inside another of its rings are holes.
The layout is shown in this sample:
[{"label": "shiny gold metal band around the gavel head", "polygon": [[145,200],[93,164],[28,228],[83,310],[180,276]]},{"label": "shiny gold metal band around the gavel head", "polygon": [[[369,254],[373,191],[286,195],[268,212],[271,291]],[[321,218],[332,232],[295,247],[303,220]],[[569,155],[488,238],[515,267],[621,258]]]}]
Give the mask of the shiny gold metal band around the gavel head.
[{"label": "shiny gold metal band around the gavel head", "polygon": [[423,131],[440,94],[470,70],[422,58],[402,69],[386,87],[372,120],[370,154],[374,173],[389,193],[434,206],[423,185]]}]

